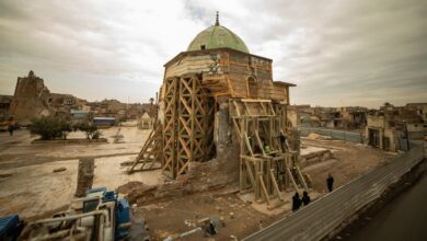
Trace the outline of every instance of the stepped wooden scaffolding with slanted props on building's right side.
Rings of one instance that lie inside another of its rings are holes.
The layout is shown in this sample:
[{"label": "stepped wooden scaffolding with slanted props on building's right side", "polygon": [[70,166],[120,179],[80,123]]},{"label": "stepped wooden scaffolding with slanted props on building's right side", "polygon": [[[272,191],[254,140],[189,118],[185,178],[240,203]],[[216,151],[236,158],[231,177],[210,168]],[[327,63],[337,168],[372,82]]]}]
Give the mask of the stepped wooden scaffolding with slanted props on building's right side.
[{"label": "stepped wooden scaffolding with slanted props on building's right side", "polygon": [[[273,208],[281,192],[308,190],[298,165],[298,153],[279,140],[286,133],[285,104],[270,100],[231,99],[230,117],[240,139],[240,192],[254,192],[255,200]],[[276,203],[277,205],[277,203]]]}]

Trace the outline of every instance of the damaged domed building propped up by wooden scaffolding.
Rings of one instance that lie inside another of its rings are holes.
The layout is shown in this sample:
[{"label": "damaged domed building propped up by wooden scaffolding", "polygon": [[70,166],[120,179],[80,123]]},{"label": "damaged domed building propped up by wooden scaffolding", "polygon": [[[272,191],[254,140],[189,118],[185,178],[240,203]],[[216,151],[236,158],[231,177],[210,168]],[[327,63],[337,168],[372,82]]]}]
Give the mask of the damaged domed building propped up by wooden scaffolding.
[{"label": "damaged domed building propped up by wooden scaffolding", "polygon": [[287,120],[295,84],[273,80],[272,62],[251,54],[217,15],[164,65],[157,123],[130,172],[162,169],[178,179],[192,162],[220,159],[235,163],[241,193],[269,206],[284,191],[307,190]]}]

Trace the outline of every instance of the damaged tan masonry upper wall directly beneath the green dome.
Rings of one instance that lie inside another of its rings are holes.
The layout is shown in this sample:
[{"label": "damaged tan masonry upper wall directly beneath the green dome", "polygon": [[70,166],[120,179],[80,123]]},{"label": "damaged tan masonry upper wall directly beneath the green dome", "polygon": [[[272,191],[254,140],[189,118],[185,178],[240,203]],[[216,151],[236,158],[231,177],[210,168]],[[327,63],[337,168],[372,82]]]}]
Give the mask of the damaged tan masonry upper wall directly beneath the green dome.
[{"label": "damaged tan masonry upper wall directly beneath the green dome", "polygon": [[203,82],[214,95],[220,93],[289,103],[289,87],[293,84],[273,80],[272,61],[230,48],[187,51],[164,65],[164,79],[204,73]]}]

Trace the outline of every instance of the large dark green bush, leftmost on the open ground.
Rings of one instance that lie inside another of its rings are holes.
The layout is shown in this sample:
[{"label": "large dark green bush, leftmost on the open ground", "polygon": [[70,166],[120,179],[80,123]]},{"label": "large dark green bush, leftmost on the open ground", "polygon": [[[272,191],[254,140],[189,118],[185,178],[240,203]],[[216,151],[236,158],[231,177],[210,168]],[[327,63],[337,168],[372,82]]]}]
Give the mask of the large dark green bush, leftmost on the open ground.
[{"label": "large dark green bush, leftmost on the open ground", "polygon": [[41,117],[33,119],[30,131],[39,135],[43,140],[66,139],[71,131],[71,125],[55,117]]}]

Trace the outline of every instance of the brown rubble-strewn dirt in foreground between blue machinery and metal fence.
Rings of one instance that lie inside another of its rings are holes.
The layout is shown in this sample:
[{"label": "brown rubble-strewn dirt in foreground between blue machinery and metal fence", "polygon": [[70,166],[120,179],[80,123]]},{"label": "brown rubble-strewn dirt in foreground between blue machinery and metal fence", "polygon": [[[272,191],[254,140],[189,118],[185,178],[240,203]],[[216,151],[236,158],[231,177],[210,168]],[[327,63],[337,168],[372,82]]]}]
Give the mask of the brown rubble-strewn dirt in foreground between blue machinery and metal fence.
[{"label": "brown rubble-strewn dirt in foreground between blue machinery and metal fence", "polygon": [[[232,236],[241,239],[274,221],[273,217],[254,210],[235,194],[207,192],[138,207],[146,217],[153,240],[163,240],[174,234],[197,228],[203,218],[210,218],[217,225],[215,240],[230,240]],[[200,240],[203,231],[184,240]]]}]

